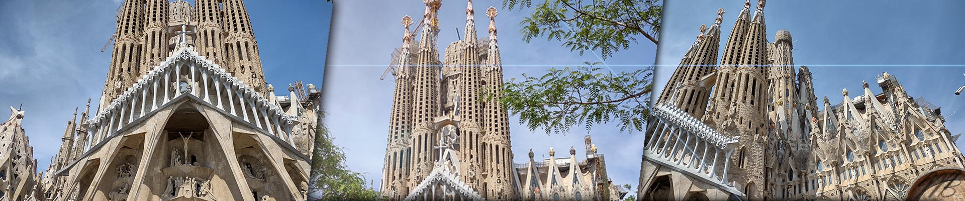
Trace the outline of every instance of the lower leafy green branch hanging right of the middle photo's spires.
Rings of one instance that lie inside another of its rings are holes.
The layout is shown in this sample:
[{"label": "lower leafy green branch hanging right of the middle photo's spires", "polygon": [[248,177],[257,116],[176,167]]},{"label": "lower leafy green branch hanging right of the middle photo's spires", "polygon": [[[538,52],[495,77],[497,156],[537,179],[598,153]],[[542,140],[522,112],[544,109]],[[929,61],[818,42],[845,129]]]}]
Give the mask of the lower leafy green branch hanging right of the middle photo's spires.
[{"label": "lower leafy green branch hanging right of the middle photo's spires", "polygon": [[616,122],[620,131],[643,131],[649,116],[650,77],[653,68],[633,72],[608,72],[587,67],[550,69],[542,76],[523,74],[505,84],[500,102],[519,115],[520,124],[531,130],[566,133],[582,124]]}]

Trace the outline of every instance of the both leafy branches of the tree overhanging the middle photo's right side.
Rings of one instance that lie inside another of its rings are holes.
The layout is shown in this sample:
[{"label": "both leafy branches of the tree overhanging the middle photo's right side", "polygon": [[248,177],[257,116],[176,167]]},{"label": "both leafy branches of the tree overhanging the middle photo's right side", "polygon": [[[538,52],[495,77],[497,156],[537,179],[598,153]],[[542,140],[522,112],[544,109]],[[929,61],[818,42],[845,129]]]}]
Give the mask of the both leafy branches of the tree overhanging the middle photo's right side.
[{"label": "both leafy branches of the tree overhanging the middle photo's right side", "polygon": [[[544,37],[580,55],[598,51],[603,60],[636,44],[640,36],[656,44],[663,11],[661,0],[541,0],[536,5],[534,0],[503,0],[503,6],[510,11],[534,8],[519,23],[526,43]],[[619,123],[620,131],[643,131],[653,67],[610,72],[594,65],[523,74],[521,81],[508,81],[501,103],[519,115],[521,124],[547,133],[610,122]]]}]

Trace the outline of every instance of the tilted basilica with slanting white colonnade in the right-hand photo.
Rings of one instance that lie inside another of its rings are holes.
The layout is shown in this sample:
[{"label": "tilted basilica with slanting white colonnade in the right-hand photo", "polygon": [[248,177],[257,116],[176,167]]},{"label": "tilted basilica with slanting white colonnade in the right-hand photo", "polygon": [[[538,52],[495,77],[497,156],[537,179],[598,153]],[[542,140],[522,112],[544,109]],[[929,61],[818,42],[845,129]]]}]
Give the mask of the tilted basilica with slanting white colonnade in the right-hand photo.
[{"label": "tilted basilica with slanting white colonnade in the right-hand photo", "polygon": [[768,43],[764,0],[744,3],[720,59],[717,14],[654,103],[639,199],[961,199],[947,193],[965,169],[940,107],[888,72],[881,93],[865,82],[819,102],[819,74],[795,70],[790,33]]}]

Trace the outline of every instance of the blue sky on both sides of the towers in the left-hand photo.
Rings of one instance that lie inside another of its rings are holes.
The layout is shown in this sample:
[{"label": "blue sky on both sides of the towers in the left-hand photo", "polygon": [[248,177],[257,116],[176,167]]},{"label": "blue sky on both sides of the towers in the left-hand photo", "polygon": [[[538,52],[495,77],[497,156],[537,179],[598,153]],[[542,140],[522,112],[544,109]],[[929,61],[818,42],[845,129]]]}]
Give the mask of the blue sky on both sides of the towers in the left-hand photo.
[{"label": "blue sky on both sides of the towers in the left-hand photo", "polygon": [[[111,47],[105,52],[100,47],[114,33],[121,3],[0,1],[0,107],[23,103],[23,128],[39,160],[38,171],[57,154],[71,107],[83,110],[89,98],[96,107],[111,59]],[[267,82],[320,85],[332,4],[248,1],[245,7]]]}]

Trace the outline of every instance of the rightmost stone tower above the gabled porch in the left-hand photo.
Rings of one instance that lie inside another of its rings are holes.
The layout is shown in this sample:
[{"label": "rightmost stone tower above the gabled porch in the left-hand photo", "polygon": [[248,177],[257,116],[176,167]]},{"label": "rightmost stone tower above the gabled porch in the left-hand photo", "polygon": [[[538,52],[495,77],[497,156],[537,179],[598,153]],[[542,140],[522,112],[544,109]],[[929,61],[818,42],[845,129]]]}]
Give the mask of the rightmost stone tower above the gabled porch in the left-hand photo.
[{"label": "rightmost stone tower above the gabled porch in the left-hand photo", "polygon": [[258,54],[258,42],[251,30],[251,19],[241,0],[226,0],[224,3],[225,51],[228,55],[228,68],[242,82],[264,95],[266,85],[262,72],[262,59]]}]

